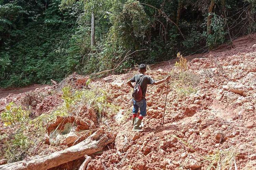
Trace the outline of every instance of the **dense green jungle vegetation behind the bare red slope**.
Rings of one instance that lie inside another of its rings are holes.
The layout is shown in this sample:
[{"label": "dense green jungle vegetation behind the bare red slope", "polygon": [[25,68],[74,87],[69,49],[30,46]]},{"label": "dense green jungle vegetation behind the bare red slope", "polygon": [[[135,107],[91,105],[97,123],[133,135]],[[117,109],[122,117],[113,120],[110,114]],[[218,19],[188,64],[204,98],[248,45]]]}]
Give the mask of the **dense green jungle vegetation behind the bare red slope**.
[{"label": "dense green jungle vegetation behind the bare red slope", "polygon": [[234,38],[255,32],[255,6],[255,0],[0,0],[0,86],[116,66],[119,73],[179,51],[232,47]]}]

